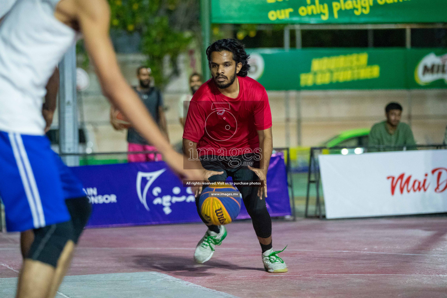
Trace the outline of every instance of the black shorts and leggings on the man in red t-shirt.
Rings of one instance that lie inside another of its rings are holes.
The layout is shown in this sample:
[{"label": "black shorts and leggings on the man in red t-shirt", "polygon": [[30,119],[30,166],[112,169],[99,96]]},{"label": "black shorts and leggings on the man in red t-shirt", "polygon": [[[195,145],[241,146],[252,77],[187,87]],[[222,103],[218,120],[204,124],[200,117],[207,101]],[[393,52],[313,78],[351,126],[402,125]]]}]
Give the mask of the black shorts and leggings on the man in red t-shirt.
[{"label": "black shorts and leggings on the man in red t-shirt", "polygon": [[[223,160],[222,160],[223,159]],[[244,180],[259,180],[259,177],[247,167],[247,163],[253,168],[259,167],[259,162],[256,162],[253,155],[243,155],[231,156],[231,157],[220,157],[219,159],[212,155],[205,155],[200,157],[200,162],[203,168],[213,171],[223,171],[221,175],[211,176],[208,180],[210,182],[214,181],[225,181],[228,176],[233,178],[233,181],[244,181]],[[268,238],[272,235],[272,220],[270,214],[267,211],[265,197],[261,199],[257,196],[258,187],[252,186],[237,186],[239,189],[242,200],[244,201],[245,208],[252,218],[253,228],[256,235],[261,238]],[[197,212],[204,223],[208,223],[200,212],[198,206],[198,198],[196,199]],[[211,227],[212,226],[208,226]]]}]

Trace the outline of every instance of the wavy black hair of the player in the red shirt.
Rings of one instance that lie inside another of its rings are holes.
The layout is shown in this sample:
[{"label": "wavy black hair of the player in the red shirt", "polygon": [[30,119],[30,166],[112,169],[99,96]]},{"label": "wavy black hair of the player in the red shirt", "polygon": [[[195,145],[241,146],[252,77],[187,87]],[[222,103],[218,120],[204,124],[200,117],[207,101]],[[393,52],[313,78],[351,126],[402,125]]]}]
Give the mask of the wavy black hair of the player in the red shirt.
[{"label": "wavy black hair of the player in the red shirt", "polygon": [[245,51],[244,45],[236,39],[232,38],[219,39],[218,41],[215,41],[211,46],[208,46],[207,48],[208,64],[211,63],[212,52],[220,52],[223,50],[228,50],[229,52],[233,53],[233,60],[236,61],[236,64],[242,63],[242,68],[240,69],[237,75],[242,77],[247,76],[250,69],[250,64],[248,63],[250,55],[247,54],[247,52]]}]

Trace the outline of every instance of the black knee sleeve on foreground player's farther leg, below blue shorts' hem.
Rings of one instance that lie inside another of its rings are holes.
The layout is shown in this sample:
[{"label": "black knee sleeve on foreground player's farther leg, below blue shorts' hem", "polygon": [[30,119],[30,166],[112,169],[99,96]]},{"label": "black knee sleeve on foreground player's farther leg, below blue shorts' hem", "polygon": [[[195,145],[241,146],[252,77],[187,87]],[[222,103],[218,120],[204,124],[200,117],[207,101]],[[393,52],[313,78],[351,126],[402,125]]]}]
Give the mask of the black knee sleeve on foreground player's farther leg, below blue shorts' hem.
[{"label": "black knee sleeve on foreground player's farther leg, below blue shorts' hem", "polygon": [[73,237],[71,239],[77,244],[85,225],[89,221],[90,214],[92,214],[92,205],[90,205],[87,197],[67,199],[65,205],[67,205],[68,212],[72,217]]}]

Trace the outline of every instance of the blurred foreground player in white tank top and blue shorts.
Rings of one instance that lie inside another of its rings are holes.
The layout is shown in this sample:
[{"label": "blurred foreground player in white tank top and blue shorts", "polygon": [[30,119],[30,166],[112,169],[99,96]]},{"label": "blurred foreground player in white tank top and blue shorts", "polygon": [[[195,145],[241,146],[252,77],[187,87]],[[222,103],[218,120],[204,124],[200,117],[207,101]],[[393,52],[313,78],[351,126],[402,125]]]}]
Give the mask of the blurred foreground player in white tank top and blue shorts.
[{"label": "blurred foreground player in white tank top and blue shorts", "polygon": [[[7,0],[7,4],[12,2]],[[1,19],[4,12],[0,13]],[[103,93],[112,104],[163,153],[178,175],[190,180],[203,175],[184,169],[187,161],[164,139],[124,80],[109,38],[109,23],[106,0],[17,0],[0,22],[0,195],[9,231],[45,231],[43,237],[36,234],[32,246],[36,255],[44,258],[25,259],[17,298],[54,297],[74,247],[60,233],[71,232],[70,216],[63,203],[57,167],[53,167],[53,176],[49,173],[54,160],[44,137],[42,98],[49,78],[76,41],[77,33],[84,36]],[[11,177],[16,178],[8,181]],[[59,238],[54,238],[58,232]],[[52,246],[48,248],[48,244]],[[47,252],[43,254],[42,250]]]}]

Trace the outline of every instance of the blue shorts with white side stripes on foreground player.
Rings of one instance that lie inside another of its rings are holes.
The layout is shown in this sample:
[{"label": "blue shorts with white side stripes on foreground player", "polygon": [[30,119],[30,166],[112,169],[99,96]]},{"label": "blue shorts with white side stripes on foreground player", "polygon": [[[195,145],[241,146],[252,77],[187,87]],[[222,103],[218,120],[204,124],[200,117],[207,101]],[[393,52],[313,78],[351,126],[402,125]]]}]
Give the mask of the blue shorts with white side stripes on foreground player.
[{"label": "blue shorts with white side stripes on foreground player", "polygon": [[0,131],[0,197],[8,231],[67,222],[65,199],[83,196],[82,184],[45,136]]}]

